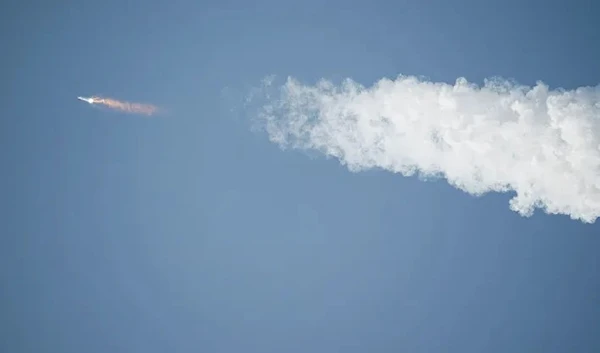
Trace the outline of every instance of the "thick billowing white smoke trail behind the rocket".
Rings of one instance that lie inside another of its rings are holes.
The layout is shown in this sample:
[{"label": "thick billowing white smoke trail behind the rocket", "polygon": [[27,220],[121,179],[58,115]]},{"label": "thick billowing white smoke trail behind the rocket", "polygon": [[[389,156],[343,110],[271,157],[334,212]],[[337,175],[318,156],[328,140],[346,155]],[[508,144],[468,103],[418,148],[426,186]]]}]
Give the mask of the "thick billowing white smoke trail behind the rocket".
[{"label": "thick billowing white smoke trail behind the rocket", "polygon": [[279,93],[260,118],[281,147],[319,150],[351,171],[441,176],[474,195],[514,190],[510,208],[523,216],[600,216],[600,86],[290,78]]}]

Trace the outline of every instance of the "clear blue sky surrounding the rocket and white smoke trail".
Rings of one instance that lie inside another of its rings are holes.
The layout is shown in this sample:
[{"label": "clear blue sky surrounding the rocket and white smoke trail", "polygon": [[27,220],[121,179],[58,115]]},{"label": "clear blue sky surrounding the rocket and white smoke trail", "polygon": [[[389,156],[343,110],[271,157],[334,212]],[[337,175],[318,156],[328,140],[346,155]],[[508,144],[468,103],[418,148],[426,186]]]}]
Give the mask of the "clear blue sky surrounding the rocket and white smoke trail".
[{"label": "clear blue sky surrounding the rocket and white smoke trail", "polygon": [[282,152],[239,103],[269,74],[596,85],[593,3],[3,4],[0,351],[600,351],[598,224]]}]

